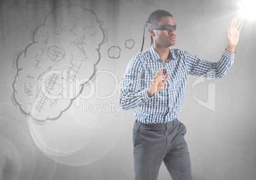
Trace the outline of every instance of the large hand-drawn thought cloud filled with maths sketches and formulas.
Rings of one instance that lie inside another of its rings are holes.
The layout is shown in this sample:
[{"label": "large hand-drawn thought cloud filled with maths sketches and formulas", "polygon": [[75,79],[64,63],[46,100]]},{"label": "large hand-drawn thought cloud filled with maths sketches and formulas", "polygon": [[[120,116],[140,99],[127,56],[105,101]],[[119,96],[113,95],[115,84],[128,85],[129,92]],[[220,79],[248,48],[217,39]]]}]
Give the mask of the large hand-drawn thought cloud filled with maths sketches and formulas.
[{"label": "large hand-drawn thought cloud filled with maths sketches and formulas", "polygon": [[105,34],[94,11],[77,4],[57,6],[33,30],[17,56],[13,99],[24,115],[46,122],[68,110],[94,78]]}]

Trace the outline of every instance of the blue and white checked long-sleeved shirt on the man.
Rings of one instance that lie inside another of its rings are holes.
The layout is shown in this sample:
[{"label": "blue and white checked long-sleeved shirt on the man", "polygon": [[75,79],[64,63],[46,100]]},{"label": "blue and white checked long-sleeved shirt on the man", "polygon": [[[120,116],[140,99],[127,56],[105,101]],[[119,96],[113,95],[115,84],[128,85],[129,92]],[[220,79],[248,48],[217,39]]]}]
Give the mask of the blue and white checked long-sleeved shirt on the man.
[{"label": "blue and white checked long-sleeved shirt on the man", "polygon": [[[218,62],[203,60],[181,49],[170,49],[164,62],[153,46],[134,56],[127,65],[121,87],[120,106],[134,108],[136,120],[145,124],[170,122],[178,117],[185,95],[187,75],[211,78],[225,77],[234,62],[234,54],[224,51]],[[169,78],[163,89],[150,98],[146,90],[150,80],[165,67],[162,78]]]}]

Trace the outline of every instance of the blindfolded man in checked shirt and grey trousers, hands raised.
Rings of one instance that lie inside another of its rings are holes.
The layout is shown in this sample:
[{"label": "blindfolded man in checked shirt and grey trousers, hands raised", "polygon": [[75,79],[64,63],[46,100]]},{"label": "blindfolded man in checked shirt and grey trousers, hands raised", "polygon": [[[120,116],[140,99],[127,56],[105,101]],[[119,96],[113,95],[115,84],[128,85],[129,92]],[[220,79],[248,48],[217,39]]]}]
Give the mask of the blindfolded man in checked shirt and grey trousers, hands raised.
[{"label": "blindfolded man in checked shirt and grey trousers, hands raised", "polygon": [[169,49],[176,41],[171,13],[154,11],[146,27],[153,44],[134,56],[124,76],[120,105],[134,108],[133,128],[135,179],[157,179],[162,161],[173,180],[192,179],[190,157],[178,119],[187,75],[225,77],[234,61],[243,22],[234,18],[227,31],[227,47],[218,62],[203,60],[181,49]]}]

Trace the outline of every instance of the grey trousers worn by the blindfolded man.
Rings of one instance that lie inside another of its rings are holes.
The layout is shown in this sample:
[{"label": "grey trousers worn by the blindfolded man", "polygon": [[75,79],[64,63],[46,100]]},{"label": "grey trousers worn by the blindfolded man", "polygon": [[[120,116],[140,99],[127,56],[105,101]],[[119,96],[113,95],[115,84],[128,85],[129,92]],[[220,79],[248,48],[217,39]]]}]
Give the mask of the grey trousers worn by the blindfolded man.
[{"label": "grey trousers worn by the blindfolded man", "polygon": [[163,161],[173,180],[191,180],[186,131],[178,119],[167,124],[136,121],[132,137],[135,180],[156,180]]}]

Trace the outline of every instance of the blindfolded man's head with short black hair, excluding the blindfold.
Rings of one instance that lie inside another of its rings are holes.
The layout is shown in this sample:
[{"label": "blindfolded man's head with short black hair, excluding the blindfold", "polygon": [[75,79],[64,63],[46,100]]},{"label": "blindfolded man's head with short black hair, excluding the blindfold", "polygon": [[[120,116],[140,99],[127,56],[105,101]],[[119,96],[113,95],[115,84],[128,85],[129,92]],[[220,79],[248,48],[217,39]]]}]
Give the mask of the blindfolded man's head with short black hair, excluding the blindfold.
[{"label": "blindfolded man's head with short black hair, excluding the blindfold", "polygon": [[[174,26],[173,15],[168,11],[157,10],[148,18],[148,23],[153,25],[169,25]],[[170,30],[148,30],[151,35],[151,40],[154,46],[160,46],[161,48],[169,48],[169,46],[174,46],[176,41],[176,29]]]}]

